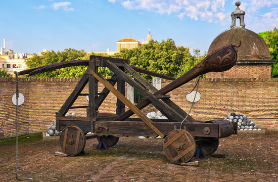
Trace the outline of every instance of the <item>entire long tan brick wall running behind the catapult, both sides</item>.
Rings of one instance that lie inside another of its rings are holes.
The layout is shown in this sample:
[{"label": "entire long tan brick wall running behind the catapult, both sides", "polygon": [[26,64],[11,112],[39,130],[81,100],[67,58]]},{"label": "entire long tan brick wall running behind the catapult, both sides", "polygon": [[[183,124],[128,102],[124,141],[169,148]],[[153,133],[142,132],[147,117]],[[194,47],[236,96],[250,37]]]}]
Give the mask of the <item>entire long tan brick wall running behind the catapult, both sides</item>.
[{"label": "entire long tan brick wall running behind the catapult, both sides", "polygon": [[[37,133],[47,129],[55,120],[65,100],[71,94],[79,78],[20,78],[19,92],[25,97],[19,106],[19,134]],[[189,92],[197,79],[181,86]],[[162,86],[169,81],[162,79]],[[102,90],[99,85],[99,92]],[[230,112],[234,79],[202,78],[199,85],[201,100],[194,104],[191,115],[197,120],[220,119]],[[86,86],[82,93],[88,93]],[[15,94],[15,78],[0,77],[0,138],[16,134],[16,107],[12,104]],[[171,100],[186,112],[191,103],[179,88],[170,92]],[[100,107],[100,112],[116,113],[116,100],[109,94]],[[246,114],[259,127],[278,130],[278,79],[236,79],[233,111]],[[86,97],[80,96],[74,106],[87,105]],[[86,116],[86,109],[72,109],[70,113]]]}]

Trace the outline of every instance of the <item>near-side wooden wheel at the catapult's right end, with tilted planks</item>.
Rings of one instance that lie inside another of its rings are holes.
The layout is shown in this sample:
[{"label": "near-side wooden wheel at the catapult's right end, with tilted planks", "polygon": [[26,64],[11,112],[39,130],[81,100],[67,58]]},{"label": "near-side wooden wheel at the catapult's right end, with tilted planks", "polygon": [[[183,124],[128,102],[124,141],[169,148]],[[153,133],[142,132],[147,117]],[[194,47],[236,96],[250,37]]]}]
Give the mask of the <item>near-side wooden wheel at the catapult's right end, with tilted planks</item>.
[{"label": "near-side wooden wheel at the catapult's right end, with tilted planks", "polygon": [[176,163],[188,162],[196,152],[194,136],[186,130],[175,129],[170,131],[164,140],[166,157]]}]

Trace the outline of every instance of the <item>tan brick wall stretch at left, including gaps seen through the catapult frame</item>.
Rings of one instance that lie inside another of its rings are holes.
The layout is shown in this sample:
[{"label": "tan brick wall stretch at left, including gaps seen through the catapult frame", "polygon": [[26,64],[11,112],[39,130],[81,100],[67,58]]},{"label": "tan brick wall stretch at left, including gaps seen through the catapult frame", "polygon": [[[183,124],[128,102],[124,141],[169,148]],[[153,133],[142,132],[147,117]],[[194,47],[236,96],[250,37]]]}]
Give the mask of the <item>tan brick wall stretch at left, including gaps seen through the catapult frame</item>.
[{"label": "tan brick wall stretch at left, including gaps seen through the catapult frame", "polygon": [[[47,129],[55,121],[59,111],[72,93],[79,78],[19,78],[19,92],[25,102],[19,106],[19,135],[37,133]],[[103,85],[99,85],[99,92]],[[0,77],[0,137],[16,134],[15,78]],[[88,86],[82,93],[88,93]],[[109,94],[99,112],[116,113],[117,98]],[[73,106],[88,105],[86,96],[79,96]],[[69,113],[86,116],[86,108],[70,109]]]}]

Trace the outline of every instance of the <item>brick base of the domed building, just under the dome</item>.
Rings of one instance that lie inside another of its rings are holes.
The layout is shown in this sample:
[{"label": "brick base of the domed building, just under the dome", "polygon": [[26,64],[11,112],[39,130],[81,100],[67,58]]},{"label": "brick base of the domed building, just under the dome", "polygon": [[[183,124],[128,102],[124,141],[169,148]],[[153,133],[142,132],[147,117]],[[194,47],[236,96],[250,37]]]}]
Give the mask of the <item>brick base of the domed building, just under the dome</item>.
[{"label": "brick base of the domed building, just under the dome", "polygon": [[237,78],[270,78],[270,64],[238,64],[224,72],[210,72],[206,78],[234,78],[237,70]]}]

